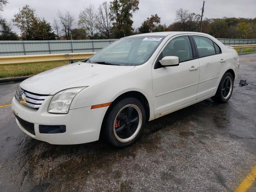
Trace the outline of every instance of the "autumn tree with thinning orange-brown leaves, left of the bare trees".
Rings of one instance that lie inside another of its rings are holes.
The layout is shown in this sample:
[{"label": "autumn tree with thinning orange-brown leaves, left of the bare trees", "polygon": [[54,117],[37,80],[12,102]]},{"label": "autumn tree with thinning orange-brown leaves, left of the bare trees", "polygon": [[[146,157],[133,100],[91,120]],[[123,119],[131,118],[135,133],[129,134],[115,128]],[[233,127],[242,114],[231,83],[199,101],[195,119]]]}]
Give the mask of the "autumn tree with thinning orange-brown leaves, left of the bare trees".
[{"label": "autumn tree with thinning orange-brown leaves, left of the bare trees", "polygon": [[30,8],[29,5],[25,5],[19,12],[14,14],[12,22],[16,27],[20,29],[21,38],[24,40],[33,39],[33,25],[36,22],[35,10]]}]

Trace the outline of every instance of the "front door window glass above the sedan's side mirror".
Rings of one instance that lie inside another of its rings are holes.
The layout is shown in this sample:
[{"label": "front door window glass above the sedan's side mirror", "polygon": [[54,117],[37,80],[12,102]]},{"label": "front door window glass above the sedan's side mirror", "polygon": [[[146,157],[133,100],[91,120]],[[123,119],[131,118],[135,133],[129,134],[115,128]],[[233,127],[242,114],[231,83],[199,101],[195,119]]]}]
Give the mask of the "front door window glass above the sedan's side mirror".
[{"label": "front door window glass above the sedan's side mirror", "polygon": [[192,48],[188,36],[172,39],[162,51],[162,58],[165,56],[177,56],[180,62],[192,59]]}]

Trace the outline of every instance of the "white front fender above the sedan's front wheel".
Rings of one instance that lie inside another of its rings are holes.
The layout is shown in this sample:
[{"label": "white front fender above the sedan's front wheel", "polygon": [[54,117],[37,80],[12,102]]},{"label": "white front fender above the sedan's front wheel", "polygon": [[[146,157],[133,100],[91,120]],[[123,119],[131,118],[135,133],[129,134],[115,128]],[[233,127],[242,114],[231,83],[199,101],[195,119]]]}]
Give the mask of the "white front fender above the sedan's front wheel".
[{"label": "white front fender above the sedan's front wheel", "polygon": [[[134,69],[108,78],[79,92],[70,109],[113,102],[118,96],[129,91],[138,91],[148,100],[153,110],[151,64],[145,63]],[[150,111],[150,114],[153,114]]]}]

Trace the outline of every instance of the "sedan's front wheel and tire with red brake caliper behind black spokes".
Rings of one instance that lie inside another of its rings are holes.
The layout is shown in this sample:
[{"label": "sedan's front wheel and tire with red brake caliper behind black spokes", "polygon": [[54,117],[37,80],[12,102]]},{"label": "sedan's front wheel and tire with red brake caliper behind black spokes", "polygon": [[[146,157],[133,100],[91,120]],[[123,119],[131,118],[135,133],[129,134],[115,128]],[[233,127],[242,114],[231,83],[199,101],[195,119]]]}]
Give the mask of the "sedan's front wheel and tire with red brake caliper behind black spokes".
[{"label": "sedan's front wheel and tire with red brake caliper behind black spokes", "polygon": [[119,101],[107,115],[103,137],[106,142],[117,148],[134,144],[146,125],[146,111],[136,98]]}]

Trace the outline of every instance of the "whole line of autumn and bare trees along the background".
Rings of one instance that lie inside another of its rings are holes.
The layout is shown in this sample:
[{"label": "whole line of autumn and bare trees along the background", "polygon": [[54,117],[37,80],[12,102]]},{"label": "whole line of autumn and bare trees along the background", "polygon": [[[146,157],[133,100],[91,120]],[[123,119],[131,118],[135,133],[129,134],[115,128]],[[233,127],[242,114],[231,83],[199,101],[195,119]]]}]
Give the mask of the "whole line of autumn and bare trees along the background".
[{"label": "whole line of autumn and bare trees along the background", "polygon": [[[0,11],[7,3],[8,0],[0,0]],[[0,40],[110,39],[148,32],[200,31],[201,15],[182,8],[176,11],[175,22],[168,26],[161,24],[158,14],[152,14],[134,29],[132,16],[139,10],[138,4],[139,0],[113,0],[98,8],[90,4],[80,12],[78,20],[70,12],[58,10],[52,24],[25,5],[12,19],[20,30],[19,36],[0,15]],[[204,18],[202,32],[216,38],[256,38],[256,18]]]}]

